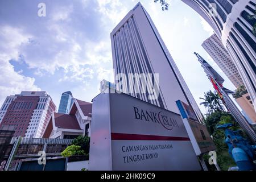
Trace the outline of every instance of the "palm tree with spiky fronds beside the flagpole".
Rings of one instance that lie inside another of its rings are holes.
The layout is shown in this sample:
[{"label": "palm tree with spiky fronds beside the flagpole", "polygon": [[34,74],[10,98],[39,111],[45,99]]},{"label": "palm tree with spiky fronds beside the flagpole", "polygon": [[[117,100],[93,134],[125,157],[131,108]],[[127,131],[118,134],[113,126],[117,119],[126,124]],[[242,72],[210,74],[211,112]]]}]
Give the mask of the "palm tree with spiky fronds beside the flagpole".
[{"label": "palm tree with spiky fronds beside the flagpole", "polygon": [[212,92],[211,90],[207,93],[204,93],[204,98],[200,97],[201,102],[200,105],[204,105],[208,108],[208,113],[213,113],[213,111],[224,111],[222,107],[222,102],[217,92]]}]

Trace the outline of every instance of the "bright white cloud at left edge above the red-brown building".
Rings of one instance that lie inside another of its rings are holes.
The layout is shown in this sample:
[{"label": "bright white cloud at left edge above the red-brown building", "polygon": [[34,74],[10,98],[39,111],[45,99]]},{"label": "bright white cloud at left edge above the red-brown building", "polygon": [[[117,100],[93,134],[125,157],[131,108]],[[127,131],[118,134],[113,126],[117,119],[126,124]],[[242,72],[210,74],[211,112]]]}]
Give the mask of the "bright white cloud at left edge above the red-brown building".
[{"label": "bright white cloud at left edge above the red-brown building", "polygon": [[6,96],[17,94],[22,90],[40,90],[35,85],[35,78],[22,75],[22,70],[15,72],[9,62],[11,59],[18,60],[20,47],[28,44],[31,37],[21,28],[0,27],[0,103]]}]

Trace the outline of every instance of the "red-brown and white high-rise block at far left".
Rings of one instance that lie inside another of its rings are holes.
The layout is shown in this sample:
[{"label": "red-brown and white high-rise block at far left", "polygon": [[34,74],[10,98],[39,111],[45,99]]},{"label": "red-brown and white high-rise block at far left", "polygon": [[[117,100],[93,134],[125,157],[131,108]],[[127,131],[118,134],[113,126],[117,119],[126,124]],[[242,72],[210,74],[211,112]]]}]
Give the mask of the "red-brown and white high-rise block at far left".
[{"label": "red-brown and white high-rise block at far left", "polygon": [[21,92],[6,97],[0,110],[0,128],[14,126],[14,137],[41,138],[56,110],[47,92]]}]

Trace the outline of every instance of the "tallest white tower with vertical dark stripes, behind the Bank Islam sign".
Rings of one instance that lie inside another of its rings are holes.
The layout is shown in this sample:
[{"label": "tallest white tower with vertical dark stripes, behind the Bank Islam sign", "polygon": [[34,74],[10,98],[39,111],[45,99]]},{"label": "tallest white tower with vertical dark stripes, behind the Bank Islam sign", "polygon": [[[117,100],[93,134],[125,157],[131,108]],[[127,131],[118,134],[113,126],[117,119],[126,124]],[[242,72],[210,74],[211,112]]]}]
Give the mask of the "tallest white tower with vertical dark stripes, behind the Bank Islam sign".
[{"label": "tallest white tower with vertical dark stripes, behind the Bank Islam sign", "polygon": [[[150,15],[138,3],[111,33],[115,75],[124,73],[159,73],[159,97],[150,100],[150,93],[128,94],[156,106],[179,113],[176,102],[181,100],[193,107],[199,121],[203,115],[185,84]],[[127,85],[131,84],[131,81]]]}]

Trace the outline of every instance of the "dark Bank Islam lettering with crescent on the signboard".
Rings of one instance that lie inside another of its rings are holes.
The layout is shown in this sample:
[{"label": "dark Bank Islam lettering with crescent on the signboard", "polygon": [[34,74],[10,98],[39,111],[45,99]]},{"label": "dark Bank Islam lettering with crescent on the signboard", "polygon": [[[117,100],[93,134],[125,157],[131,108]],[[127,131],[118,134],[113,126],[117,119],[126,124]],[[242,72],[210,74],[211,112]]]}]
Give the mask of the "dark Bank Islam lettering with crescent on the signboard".
[{"label": "dark Bank Islam lettering with crescent on the signboard", "polygon": [[176,119],[167,117],[164,115],[163,111],[159,111],[158,113],[147,111],[143,109],[139,109],[138,107],[134,108],[135,119],[139,119],[142,121],[158,123],[162,125],[167,130],[172,130],[174,127],[179,127]]}]

